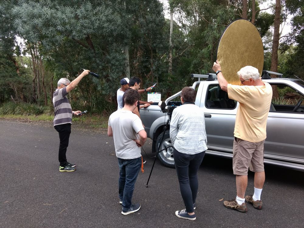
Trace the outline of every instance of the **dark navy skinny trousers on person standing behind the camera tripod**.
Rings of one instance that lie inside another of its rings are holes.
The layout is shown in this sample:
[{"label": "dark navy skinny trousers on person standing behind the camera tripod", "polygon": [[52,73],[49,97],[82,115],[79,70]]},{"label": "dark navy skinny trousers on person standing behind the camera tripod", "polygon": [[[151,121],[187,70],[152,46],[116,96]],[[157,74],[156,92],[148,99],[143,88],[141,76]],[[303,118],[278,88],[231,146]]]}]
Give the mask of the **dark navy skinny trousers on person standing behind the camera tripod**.
[{"label": "dark navy skinny trousers on person standing behind the camera tripod", "polygon": [[174,148],[173,156],[181,197],[184,200],[187,212],[194,212],[193,204],[199,187],[197,171],[203,161],[205,151],[198,154],[183,154]]}]

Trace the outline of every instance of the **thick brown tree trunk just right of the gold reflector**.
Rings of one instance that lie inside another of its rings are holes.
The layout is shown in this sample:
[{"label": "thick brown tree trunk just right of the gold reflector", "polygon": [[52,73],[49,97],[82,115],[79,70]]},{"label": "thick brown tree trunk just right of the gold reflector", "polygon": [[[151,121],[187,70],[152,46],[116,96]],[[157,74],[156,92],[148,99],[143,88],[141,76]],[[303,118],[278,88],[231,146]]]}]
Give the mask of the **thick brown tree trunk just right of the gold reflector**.
[{"label": "thick brown tree trunk just right of the gold reflector", "polygon": [[[273,41],[272,41],[272,54],[271,54],[271,67],[270,71],[278,71],[278,47],[279,47],[279,33],[280,33],[280,16],[281,16],[281,0],[275,0],[275,23],[274,23],[274,32],[273,32]],[[276,75],[271,75],[271,78],[276,78]],[[277,87],[272,88],[272,97],[278,98],[278,89]]]}]

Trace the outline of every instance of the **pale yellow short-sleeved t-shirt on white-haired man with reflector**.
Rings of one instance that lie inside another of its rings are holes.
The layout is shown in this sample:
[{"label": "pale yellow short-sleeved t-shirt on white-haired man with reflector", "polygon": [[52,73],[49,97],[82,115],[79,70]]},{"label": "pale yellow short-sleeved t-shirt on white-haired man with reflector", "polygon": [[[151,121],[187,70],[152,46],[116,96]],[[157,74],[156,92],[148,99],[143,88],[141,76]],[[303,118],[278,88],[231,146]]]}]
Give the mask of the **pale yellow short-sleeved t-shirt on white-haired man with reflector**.
[{"label": "pale yellow short-sleeved t-shirt on white-haired man with reflector", "polygon": [[257,143],[266,139],[266,123],[270,109],[272,88],[264,85],[227,85],[230,99],[240,103],[235,118],[234,136]]}]

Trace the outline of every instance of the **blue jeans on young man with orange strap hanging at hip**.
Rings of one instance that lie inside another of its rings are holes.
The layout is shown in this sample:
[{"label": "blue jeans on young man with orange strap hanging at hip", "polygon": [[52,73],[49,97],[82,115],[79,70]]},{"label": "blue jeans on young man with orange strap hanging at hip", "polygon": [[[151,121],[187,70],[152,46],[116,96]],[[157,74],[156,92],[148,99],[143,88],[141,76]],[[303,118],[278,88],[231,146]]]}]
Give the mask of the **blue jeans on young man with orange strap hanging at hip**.
[{"label": "blue jeans on young man with orange strap hanging at hip", "polygon": [[123,201],[123,210],[128,210],[132,204],[134,185],[141,167],[141,157],[134,159],[118,158],[119,179],[118,192],[119,199]]}]

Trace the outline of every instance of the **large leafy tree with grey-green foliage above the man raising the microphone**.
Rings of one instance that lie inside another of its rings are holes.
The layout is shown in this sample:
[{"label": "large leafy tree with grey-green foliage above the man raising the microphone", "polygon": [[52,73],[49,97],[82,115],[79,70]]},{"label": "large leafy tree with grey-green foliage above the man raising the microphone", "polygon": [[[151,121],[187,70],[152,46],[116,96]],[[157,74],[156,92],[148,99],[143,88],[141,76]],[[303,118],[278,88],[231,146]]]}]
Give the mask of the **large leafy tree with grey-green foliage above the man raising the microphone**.
[{"label": "large leafy tree with grey-green foliage above the man raising the microphone", "polygon": [[[125,75],[124,47],[130,49],[134,75],[153,80],[164,50],[162,4],[139,0],[20,0],[13,9],[18,31],[54,71],[54,79],[73,78],[81,68],[101,75],[86,77],[79,93],[85,100],[112,99]],[[124,7],[124,4],[126,7]],[[55,69],[56,68],[56,69]],[[61,72],[61,73],[60,73]],[[95,86],[92,87],[92,84]],[[77,92],[77,90],[75,91]]]}]

